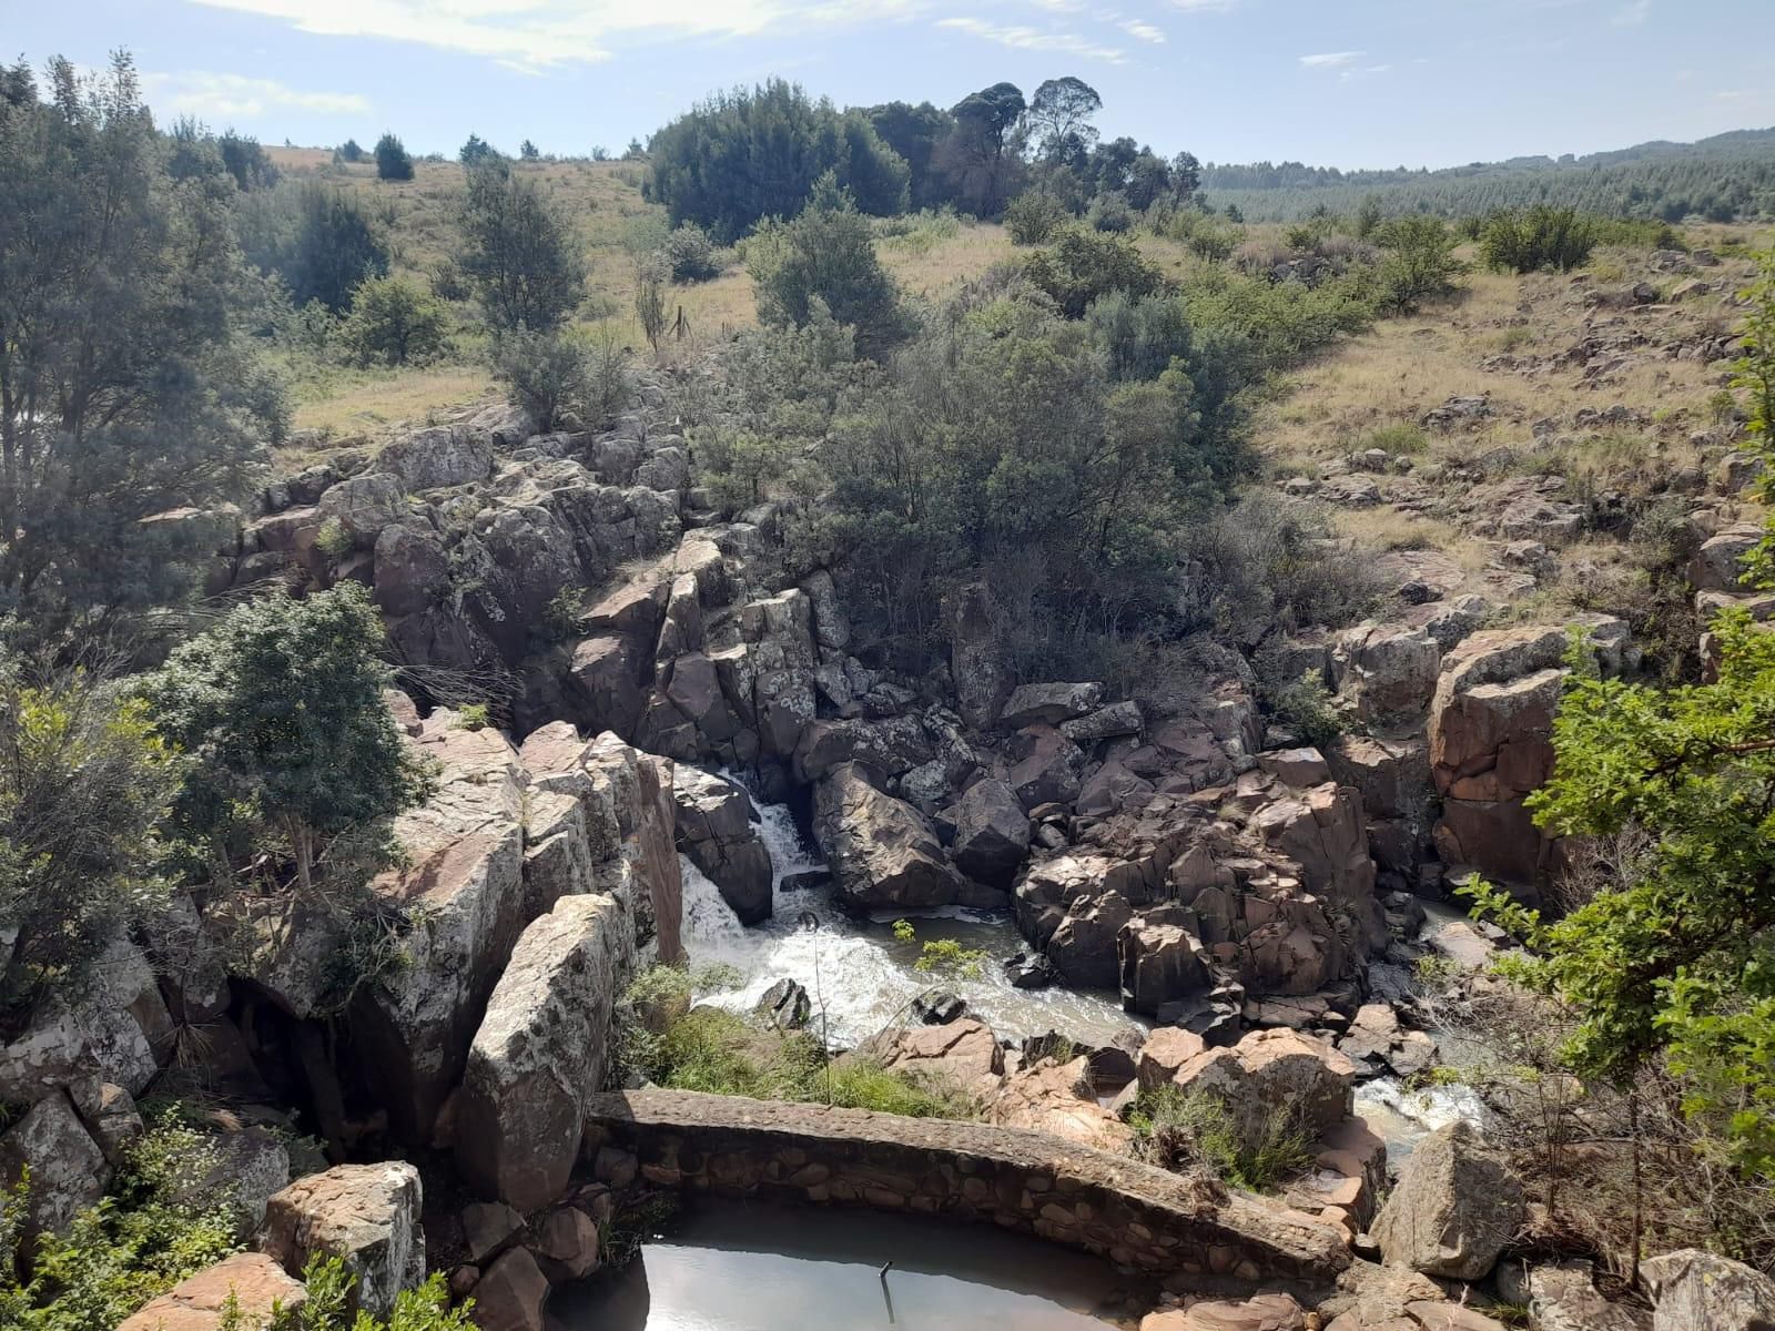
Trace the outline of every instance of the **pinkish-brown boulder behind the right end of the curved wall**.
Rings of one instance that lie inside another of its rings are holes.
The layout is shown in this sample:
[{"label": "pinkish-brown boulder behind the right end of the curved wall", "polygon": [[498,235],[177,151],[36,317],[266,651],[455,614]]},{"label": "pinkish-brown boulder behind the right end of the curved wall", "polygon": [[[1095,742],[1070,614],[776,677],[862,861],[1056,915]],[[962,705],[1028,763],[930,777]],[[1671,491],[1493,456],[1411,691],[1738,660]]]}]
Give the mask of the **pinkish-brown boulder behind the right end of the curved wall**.
[{"label": "pinkish-brown boulder behind the right end of the curved wall", "polygon": [[1342,1123],[1354,1077],[1356,1065],[1329,1045],[1274,1028],[1196,1054],[1172,1081],[1218,1099],[1246,1141],[1257,1143],[1278,1113],[1314,1134]]}]

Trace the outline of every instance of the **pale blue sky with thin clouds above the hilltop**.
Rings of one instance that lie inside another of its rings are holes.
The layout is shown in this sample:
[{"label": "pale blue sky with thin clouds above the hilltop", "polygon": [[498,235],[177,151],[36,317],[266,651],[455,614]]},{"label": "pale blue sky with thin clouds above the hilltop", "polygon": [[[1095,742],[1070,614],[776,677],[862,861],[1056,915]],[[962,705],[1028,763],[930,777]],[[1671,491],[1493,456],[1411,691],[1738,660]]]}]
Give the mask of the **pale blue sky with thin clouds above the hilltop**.
[{"label": "pale blue sky with thin clouds above the hilltop", "polygon": [[0,0],[0,48],[124,46],[163,117],[266,142],[646,137],[783,75],[951,105],[1077,75],[1202,160],[1443,167],[1775,124],[1775,0]]}]

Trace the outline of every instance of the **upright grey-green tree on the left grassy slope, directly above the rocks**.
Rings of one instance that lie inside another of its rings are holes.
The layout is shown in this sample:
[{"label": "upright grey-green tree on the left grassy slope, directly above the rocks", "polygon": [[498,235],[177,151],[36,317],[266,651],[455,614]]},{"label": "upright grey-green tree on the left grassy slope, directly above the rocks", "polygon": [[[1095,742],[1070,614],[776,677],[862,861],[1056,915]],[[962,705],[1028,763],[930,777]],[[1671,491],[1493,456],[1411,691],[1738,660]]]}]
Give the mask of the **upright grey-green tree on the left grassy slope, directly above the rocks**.
[{"label": "upright grey-green tree on the left grassy slope, directly above the rocks", "polygon": [[462,231],[462,270],[493,328],[543,332],[579,305],[586,261],[532,176],[515,176],[501,160],[470,167]]}]

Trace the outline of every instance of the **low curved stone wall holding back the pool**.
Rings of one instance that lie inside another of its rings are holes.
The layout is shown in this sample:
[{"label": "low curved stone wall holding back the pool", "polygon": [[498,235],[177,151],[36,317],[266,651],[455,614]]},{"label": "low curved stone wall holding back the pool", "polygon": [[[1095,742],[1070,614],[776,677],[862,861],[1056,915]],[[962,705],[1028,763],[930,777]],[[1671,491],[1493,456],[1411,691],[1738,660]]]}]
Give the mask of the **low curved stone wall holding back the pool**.
[{"label": "low curved stone wall holding back the pool", "polygon": [[1335,1230],[1040,1132],[692,1091],[593,1097],[588,1155],[662,1187],[980,1221],[1182,1288],[1329,1287]]}]

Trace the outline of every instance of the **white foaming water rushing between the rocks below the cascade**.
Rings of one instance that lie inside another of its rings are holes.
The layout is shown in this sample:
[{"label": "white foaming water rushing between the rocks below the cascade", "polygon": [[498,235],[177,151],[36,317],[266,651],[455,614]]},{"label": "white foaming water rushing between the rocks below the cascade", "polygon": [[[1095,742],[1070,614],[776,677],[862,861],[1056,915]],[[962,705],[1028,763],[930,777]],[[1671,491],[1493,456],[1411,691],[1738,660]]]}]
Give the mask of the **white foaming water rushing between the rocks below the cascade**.
[{"label": "white foaming water rushing between the rocks below the cascade", "polygon": [[[726,776],[726,774],[724,774]],[[893,935],[893,925],[859,921],[843,912],[831,887],[783,891],[783,880],[824,868],[795,827],[788,806],[756,804],[758,832],[770,850],[774,914],[747,928],[715,884],[689,859],[683,866],[683,944],[692,965],[721,964],[744,976],[738,988],[698,996],[735,1012],[751,1010],[777,980],[797,980],[813,999],[815,1029],[825,1012],[825,1036],[850,1047],[882,1026],[903,1019],[905,1006],[927,988],[948,988],[967,1001],[973,1015],[1003,1038],[1060,1031],[1081,1044],[1109,1044],[1136,1022],[1115,996],[1069,990],[1014,988],[1003,962],[1024,944],[1005,912],[946,910],[912,919],[911,944]],[[928,939],[955,939],[987,953],[971,978],[930,976],[916,969]]]}]

